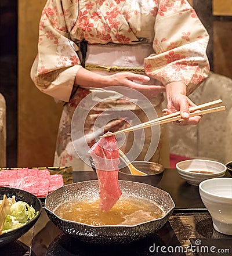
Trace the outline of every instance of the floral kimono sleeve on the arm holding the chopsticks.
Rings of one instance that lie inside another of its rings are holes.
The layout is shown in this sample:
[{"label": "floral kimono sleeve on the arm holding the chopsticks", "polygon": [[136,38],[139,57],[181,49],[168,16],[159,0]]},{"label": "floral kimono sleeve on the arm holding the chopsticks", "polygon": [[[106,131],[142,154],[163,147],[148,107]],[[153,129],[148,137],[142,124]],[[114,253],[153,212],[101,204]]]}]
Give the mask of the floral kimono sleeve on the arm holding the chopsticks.
[{"label": "floral kimono sleeve on the arm holding the chopsticks", "polygon": [[156,54],[144,59],[146,74],[164,85],[182,81],[189,95],[208,76],[209,35],[187,0],[161,0],[156,15]]}]

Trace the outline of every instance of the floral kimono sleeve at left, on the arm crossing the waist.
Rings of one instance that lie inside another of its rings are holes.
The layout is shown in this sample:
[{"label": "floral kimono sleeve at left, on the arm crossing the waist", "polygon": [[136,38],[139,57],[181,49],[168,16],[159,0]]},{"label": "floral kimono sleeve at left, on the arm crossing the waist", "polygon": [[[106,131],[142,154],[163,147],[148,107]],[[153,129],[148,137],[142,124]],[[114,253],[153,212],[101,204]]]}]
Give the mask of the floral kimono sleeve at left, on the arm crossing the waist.
[{"label": "floral kimono sleeve at left, on the arm crossing the waist", "polygon": [[76,19],[71,12],[75,6],[71,6],[71,2],[68,6],[68,2],[46,2],[39,23],[38,55],[31,68],[35,86],[64,102],[70,99],[75,76],[81,67],[76,53],[78,46],[68,38],[68,31]]}]

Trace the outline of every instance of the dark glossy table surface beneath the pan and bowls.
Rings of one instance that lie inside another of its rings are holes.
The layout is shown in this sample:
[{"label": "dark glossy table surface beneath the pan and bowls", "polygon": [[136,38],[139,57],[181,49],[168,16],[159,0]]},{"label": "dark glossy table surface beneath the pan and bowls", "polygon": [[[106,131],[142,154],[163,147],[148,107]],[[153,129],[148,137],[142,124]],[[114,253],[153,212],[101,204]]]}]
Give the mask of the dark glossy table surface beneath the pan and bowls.
[{"label": "dark glossy table surface beneath the pan and bowls", "polygon": [[[230,177],[230,174],[226,174]],[[73,181],[96,179],[95,172],[73,172]],[[119,175],[119,179],[129,176]],[[167,169],[159,179],[136,177],[170,193],[176,208],[157,233],[130,244],[103,246],[87,244],[56,228],[43,210],[34,228],[20,239],[0,248],[1,256],[157,256],[232,255],[232,236],[213,229],[212,219],[200,199],[197,186],[183,181],[175,169]],[[203,246],[203,247],[202,247]],[[207,253],[208,250],[208,253]],[[216,253],[216,254],[215,254]]]}]

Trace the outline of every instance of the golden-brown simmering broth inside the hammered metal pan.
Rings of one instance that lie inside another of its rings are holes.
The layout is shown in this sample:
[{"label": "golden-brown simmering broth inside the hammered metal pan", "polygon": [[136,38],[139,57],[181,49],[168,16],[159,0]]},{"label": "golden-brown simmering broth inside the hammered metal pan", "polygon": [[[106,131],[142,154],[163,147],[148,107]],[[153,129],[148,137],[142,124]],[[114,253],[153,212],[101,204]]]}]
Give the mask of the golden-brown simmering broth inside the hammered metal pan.
[{"label": "golden-brown simmering broth inside the hammered metal pan", "polygon": [[121,197],[107,212],[100,210],[99,200],[86,200],[61,204],[55,214],[63,219],[94,226],[136,225],[165,215],[157,204],[134,197]]}]

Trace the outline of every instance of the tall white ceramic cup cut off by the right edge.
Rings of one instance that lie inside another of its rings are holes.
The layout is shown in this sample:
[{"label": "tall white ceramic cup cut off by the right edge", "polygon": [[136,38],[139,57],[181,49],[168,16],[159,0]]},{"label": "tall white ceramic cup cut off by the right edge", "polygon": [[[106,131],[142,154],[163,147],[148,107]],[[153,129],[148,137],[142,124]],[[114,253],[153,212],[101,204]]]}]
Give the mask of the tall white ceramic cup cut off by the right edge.
[{"label": "tall white ceramic cup cut off by the right edge", "polygon": [[215,178],[199,185],[201,200],[211,214],[213,228],[232,235],[232,179]]}]

